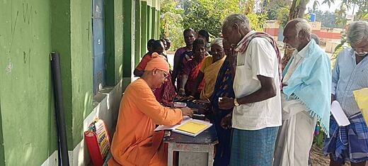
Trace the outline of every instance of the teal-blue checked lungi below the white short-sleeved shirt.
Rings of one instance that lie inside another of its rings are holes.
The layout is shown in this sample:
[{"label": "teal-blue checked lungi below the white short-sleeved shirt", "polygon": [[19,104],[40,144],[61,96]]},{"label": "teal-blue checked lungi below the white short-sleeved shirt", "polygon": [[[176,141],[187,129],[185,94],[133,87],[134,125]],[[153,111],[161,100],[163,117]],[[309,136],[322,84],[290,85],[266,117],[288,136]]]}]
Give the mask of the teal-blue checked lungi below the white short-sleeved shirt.
[{"label": "teal-blue checked lungi below the white short-sleeved shirt", "polygon": [[246,131],[233,128],[230,165],[272,165],[278,129]]}]

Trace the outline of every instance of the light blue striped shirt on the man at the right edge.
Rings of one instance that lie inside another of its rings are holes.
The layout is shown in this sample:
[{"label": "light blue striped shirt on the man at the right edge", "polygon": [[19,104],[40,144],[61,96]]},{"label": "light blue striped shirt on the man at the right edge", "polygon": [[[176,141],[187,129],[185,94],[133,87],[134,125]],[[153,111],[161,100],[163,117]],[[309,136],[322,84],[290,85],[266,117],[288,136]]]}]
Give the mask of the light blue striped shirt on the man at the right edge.
[{"label": "light blue striped shirt on the man at the right edge", "polygon": [[368,57],[360,63],[355,61],[352,48],[346,48],[338,54],[332,74],[332,94],[341,104],[347,117],[360,112],[352,91],[368,87]]}]

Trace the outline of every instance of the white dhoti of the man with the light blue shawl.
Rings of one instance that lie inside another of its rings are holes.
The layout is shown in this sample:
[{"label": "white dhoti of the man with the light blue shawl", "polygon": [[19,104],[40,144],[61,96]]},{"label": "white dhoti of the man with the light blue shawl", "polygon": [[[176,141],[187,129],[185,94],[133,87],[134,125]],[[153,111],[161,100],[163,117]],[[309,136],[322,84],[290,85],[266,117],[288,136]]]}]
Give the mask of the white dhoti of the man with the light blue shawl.
[{"label": "white dhoti of the man with the light blue shawl", "polygon": [[313,143],[317,118],[296,99],[286,100],[282,94],[282,126],[275,146],[274,166],[306,166]]}]

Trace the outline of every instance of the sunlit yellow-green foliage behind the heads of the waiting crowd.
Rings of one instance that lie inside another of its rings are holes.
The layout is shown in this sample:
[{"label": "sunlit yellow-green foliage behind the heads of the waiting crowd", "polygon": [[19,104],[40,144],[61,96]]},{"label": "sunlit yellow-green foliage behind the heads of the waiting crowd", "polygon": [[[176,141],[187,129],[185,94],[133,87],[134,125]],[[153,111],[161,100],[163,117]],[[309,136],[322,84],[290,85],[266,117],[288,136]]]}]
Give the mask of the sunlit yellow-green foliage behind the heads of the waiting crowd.
[{"label": "sunlit yellow-green foliage behind the heads of the waiting crowd", "polygon": [[[282,0],[278,0],[282,1]],[[222,21],[231,13],[244,13],[251,27],[263,31],[267,13],[255,13],[255,0],[163,0],[161,1],[161,37],[171,38],[172,49],[184,45],[183,30],[206,30],[219,37]]]}]

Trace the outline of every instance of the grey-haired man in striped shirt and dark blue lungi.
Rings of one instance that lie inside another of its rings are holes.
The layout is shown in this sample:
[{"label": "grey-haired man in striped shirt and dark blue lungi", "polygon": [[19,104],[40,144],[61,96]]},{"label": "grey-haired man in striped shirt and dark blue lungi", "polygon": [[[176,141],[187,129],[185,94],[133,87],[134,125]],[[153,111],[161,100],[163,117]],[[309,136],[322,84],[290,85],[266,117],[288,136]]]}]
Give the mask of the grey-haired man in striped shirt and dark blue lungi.
[{"label": "grey-haired man in striped shirt and dark blue lungi", "polygon": [[368,23],[350,23],[347,40],[351,48],[339,52],[333,68],[332,95],[338,101],[350,125],[338,126],[330,116],[330,138],[326,138],[323,153],[330,155],[330,165],[366,165],[368,160],[368,128],[357,106],[353,91],[368,88]]}]

